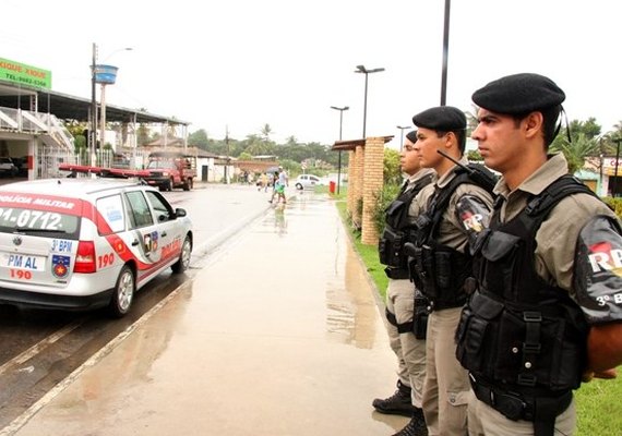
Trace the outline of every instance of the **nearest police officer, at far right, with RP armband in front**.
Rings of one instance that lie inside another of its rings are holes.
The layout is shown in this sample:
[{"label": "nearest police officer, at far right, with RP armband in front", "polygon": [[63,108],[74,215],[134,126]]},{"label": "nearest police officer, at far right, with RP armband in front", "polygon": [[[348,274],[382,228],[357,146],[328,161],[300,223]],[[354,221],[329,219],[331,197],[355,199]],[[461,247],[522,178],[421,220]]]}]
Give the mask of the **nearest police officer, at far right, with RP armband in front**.
[{"label": "nearest police officer, at far right, with RP armband in front", "polygon": [[478,290],[457,358],[469,370],[471,435],[571,435],[572,390],[622,363],[622,238],[615,215],[548,155],[565,95],[523,73],[475,92],[471,136],[501,172],[477,242]]}]

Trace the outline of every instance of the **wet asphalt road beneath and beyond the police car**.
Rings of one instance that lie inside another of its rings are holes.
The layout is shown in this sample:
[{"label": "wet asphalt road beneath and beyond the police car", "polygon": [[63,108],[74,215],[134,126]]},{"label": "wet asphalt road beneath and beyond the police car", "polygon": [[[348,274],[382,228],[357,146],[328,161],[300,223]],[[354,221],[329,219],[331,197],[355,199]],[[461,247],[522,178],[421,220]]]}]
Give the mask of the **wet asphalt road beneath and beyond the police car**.
[{"label": "wet asphalt road beneath and beyond the police car", "polygon": [[16,310],[0,305],[0,431],[40,399],[89,356],[165,301],[236,232],[270,207],[270,193],[250,185],[201,185],[166,192],[174,207],[183,207],[193,221],[195,244],[184,275],[160,274],[136,293],[122,319],[103,312],[65,313]]}]

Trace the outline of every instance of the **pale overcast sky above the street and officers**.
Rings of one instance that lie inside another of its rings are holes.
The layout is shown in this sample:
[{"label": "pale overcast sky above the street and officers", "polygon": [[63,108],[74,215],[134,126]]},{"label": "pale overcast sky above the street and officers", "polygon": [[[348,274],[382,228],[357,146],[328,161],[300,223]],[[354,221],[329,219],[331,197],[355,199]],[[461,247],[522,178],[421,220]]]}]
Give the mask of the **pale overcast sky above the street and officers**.
[{"label": "pale overcast sky above the street and officers", "polygon": [[[395,135],[441,104],[445,0],[4,0],[0,58],[52,73],[52,89],[91,98],[93,44],[119,68],[108,105],[175,117],[208,137],[268,124],[284,143]],[[566,94],[570,120],[602,133],[622,121],[622,2],[454,0],[446,104],[534,72]],[[123,48],[132,48],[131,51]],[[408,130],[404,130],[406,133]]]}]

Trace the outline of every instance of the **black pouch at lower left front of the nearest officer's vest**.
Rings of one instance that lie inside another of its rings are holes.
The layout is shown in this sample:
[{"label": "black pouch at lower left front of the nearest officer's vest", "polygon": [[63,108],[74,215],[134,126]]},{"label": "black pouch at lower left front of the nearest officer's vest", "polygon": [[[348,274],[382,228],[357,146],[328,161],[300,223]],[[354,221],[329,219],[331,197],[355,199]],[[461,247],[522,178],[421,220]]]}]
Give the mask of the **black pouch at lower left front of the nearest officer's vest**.
[{"label": "black pouch at lower left front of the nearest officer's vest", "polygon": [[477,375],[493,366],[499,343],[494,324],[499,323],[503,308],[502,303],[475,292],[462,312],[456,329],[456,358],[465,368]]}]

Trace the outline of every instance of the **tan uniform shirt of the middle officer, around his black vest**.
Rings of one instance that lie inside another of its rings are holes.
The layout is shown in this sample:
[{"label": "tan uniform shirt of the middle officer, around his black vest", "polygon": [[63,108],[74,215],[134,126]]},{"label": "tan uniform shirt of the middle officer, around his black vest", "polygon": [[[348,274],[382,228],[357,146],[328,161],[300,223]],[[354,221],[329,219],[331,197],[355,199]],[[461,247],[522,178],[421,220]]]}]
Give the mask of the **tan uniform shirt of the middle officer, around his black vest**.
[{"label": "tan uniform shirt of the middle officer, around his black vest", "polygon": [[[468,160],[463,157],[460,159],[460,164],[467,165]],[[428,209],[430,201],[434,196],[436,190],[446,187],[455,177],[456,174],[452,169],[439,178],[435,183],[423,187],[410,204],[410,208],[408,209],[409,217],[415,221],[419,214],[424,213]],[[443,213],[443,218],[439,226],[439,232],[435,241],[441,245],[448,246],[450,249],[456,250],[460,253],[465,252],[468,244],[467,230],[456,214],[456,205],[464,195],[473,195],[483,203],[489,209],[492,209],[491,195],[485,189],[470,183],[463,183],[456,187],[450,198],[447,208]]]}]

